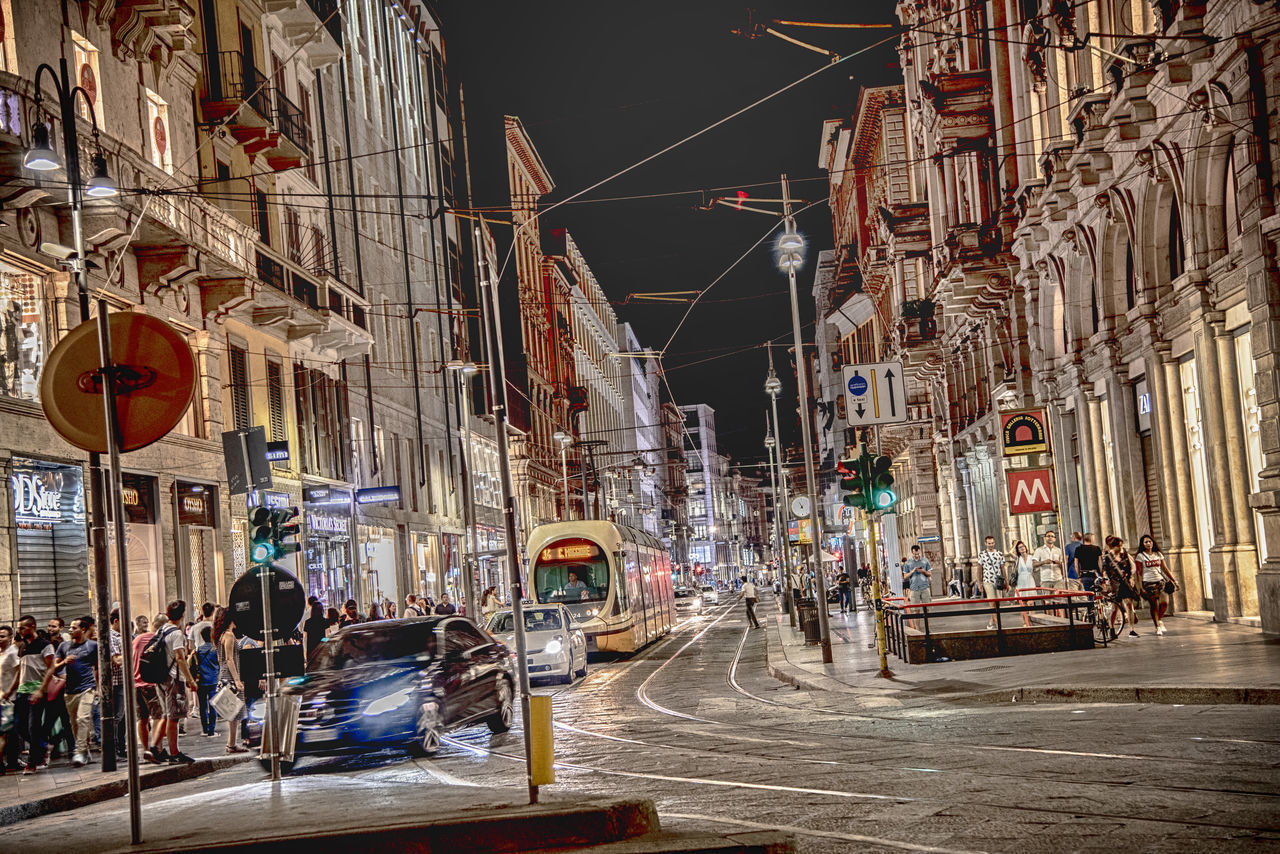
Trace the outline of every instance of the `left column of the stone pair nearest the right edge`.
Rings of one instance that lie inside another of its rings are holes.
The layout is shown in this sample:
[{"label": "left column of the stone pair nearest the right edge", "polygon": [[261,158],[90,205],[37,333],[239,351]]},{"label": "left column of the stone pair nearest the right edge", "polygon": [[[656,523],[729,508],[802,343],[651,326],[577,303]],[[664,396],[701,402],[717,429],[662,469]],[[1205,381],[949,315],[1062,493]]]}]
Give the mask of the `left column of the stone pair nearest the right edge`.
[{"label": "left column of the stone pair nearest the right edge", "polygon": [[[1210,579],[1213,585],[1213,618],[1225,622],[1240,613],[1240,586],[1231,560],[1235,545],[1236,507],[1231,493],[1228,452],[1226,419],[1222,414],[1221,371],[1217,361],[1216,330],[1221,329],[1221,314],[1206,315],[1192,325],[1196,350],[1196,382],[1199,385],[1201,426],[1204,430],[1204,460],[1208,467],[1210,515],[1213,517],[1213,547],[1210,549]],[[1240,446],[1236,446],[1239,448]],[[1242,508],[1243,510],[1243,508]]]}]

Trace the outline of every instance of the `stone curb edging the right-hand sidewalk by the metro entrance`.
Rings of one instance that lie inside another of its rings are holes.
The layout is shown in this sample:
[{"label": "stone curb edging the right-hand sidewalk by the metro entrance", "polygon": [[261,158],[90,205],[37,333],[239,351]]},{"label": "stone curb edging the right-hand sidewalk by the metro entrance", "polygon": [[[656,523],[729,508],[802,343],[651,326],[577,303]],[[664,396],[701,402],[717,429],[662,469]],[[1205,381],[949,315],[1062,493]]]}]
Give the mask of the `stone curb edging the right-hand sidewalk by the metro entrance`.
[{"label": "stone curb edging the right-hand sidewalk by the metro entrance", "polygon": [[[781,631],[776,624],[773,631]],[[806,691],[835,691],[852,695],[883,695],[883,691],[849,685],[824,673],[814,673],[786,661],[769,643],[765,632],[765,667],[769,676]],[[778,638],[781,643],[781,636]],[[781,662],[778,659],[782,659]],[[904,688],[896,691],[893,699],[904,700],[913,691]],[[1280,688],[1242,688],[1221,686],[1133,686],[1133,685],[1079,685],[1051,686],[1032,685],[1004,688],[973,694],[928,694],[922,700],[932,699],[940,703],[1147,703],[1158,705],[1280,705]]]}]

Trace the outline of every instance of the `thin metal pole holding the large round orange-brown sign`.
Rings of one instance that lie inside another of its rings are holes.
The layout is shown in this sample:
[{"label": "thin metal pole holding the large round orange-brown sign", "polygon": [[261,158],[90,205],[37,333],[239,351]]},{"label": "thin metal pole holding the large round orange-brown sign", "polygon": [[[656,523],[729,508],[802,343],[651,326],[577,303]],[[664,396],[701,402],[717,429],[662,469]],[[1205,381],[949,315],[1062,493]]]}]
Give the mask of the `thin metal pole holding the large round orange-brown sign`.
[{"label": "thin metal pole holding the large round orange-brown sign", "polygon": [[[81,259],[83,262],[83,259]],[[97,350],[102,362],[102,406],[106,414],[106,455],[111,471],[111,516],[115,530],[115,566],[120,583],[120,656],[124,668],[124,722],[129,745],[129,836],[142,841],[142,787],[138,780],[137,707],[134,697],[133,643],[124,632],[133,625],[129,613],[129,565],[124,539],[124,493],[120,489],[120,420],[115,408],[115,364],[111,359],[111,325],[106,300],[97,301]],[[110,631],[110,626],[108,626]]]}]

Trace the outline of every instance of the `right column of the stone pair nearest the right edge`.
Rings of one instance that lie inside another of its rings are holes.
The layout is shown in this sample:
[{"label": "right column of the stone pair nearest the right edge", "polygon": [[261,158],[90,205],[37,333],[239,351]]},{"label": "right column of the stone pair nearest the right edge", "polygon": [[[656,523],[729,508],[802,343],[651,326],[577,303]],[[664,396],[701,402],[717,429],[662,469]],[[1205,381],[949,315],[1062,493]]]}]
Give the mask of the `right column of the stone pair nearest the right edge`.
[{"label": "right column of the stone pair nearest the right edge", "polygon": [[1217,347],[1219,385],[1222,389],[1222,426],[1226,439],[1226,465],[1220,472],[1231,493],[1235,512],[1226,520],[1228,529],[1234,526],[1235,549],[1230,556],[1236,576],[1236,603],[1239,613],[1258,612],[1258,551],[1253,542],[1253,513],[1249,511],[1248,453],[1244,449],[1244,421],[1240,407],[1240,379],[1235,364],[1235,341],[1222,324],[1213,326],[1213,343]]}]

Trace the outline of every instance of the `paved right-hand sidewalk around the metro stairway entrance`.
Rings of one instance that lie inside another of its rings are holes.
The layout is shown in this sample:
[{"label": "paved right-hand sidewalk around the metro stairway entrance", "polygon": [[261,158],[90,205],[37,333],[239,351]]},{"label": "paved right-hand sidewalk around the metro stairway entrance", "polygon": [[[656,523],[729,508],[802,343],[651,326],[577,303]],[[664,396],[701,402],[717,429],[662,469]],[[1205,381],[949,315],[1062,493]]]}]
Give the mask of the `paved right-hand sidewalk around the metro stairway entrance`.
[{"label": "paved right-hand sidewalk around the metro stairway entrance", "polygon": [[891,654],[893,677],[883,679],[874,613],[865,607],[832,611],[835,661],[823,665],[822,648],[806,647],[787,615],[762,608],[772,676],[805,690],[854,694],[869,708],[937,702],[1280,703],[1280,639],[1198,616],[1166,617],[1164,636],[1143,620],[1139,638],[1120,638],[1105,648],[929,665],[908,665]]}]

